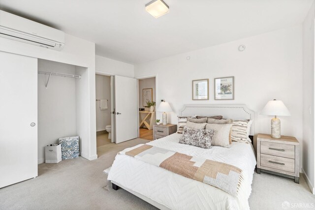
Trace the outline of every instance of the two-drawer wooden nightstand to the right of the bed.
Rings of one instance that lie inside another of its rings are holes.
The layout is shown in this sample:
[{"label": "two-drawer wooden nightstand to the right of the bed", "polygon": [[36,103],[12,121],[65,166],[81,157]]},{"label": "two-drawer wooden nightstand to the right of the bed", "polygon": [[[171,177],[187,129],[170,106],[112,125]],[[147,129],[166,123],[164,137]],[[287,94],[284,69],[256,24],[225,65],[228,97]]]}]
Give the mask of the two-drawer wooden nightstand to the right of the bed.
[{"label": "two-drawer wooden nightstand to the right of the bed", "polygon": [[268,134],[257,136],[257,174],[260,171],[293,178],[299,183],[299,142],[295,137],[272,138]]}]

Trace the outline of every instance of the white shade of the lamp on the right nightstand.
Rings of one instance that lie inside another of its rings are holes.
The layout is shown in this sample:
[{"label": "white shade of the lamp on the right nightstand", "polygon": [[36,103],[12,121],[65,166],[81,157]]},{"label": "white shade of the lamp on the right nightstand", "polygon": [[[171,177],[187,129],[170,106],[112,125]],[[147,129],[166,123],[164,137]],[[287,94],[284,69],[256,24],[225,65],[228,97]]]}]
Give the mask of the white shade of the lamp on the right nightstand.
[{"label": "white shade of the lamp on the right nightstand", "polygon": [[284,105],[284,102],[273,100],[268,101],[265,107],[261,110],[260,115],[290,116],[291,114]]}]

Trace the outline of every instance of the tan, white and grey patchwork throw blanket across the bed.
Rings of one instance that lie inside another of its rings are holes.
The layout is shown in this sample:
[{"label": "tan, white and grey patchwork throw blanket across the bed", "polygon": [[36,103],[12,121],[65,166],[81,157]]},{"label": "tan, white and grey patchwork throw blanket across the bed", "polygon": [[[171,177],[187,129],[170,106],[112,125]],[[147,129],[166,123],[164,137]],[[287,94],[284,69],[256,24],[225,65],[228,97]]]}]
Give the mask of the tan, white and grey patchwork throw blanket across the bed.
[{"label": "tan, white and grey patchwork throw blanket across the bed", "polygon": [[237,196],[243,181],[242,170],[233,165],[151,145],[140,144],[120,151],[119,154],[129,155],[184,177],[202,181],[233,196]]}]

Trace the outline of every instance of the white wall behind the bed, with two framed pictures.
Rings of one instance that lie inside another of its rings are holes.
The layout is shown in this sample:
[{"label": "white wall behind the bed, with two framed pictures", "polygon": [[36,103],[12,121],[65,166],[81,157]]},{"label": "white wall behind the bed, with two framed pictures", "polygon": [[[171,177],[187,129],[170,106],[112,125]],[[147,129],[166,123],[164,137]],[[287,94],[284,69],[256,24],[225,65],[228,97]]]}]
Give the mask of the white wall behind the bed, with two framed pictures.
[{"label": "white wall behind the bed, with two framed pictures", "polygon": [[[241,44],[246,45],[243,52],[238,51]],[[302,145],[302,26],[135,65],[135,77],[155,74],[158,104],[165,99],[174,111],[168,114],[170,123],[177,124],[183,104],[246,104],[255,111],[256,134],[270,133],[272,116],[259,112],[268,100],[276,98],[291,113],[279,117],[282,134],[295,136]],[[215,101],[214,78],[226,76],[235,77],[235,100]],[[206,78],[210,100],[192,101],[191,81]],[[161,119],[159,112],[157,119]]]}]

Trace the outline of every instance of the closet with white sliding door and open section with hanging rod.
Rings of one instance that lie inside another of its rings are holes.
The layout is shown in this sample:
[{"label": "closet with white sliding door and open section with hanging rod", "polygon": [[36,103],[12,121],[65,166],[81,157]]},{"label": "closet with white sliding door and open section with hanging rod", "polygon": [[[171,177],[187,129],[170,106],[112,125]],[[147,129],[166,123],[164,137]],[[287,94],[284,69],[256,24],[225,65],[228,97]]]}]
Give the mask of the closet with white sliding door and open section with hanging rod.
[{"label": "closet with white sliding door and open section with hanging rod", "polygon": [[85,67],[0,52],[0,188],[37,177],[60,137],[90,156],[88,84]]}]

